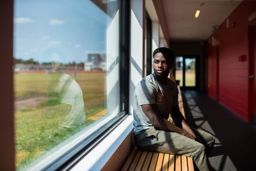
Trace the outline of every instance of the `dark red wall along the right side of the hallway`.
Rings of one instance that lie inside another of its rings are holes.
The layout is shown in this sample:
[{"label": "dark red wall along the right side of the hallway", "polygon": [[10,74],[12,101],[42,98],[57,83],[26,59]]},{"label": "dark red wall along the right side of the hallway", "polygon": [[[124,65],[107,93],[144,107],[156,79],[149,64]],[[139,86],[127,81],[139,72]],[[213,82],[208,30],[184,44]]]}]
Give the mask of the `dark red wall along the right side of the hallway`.
[{"label": "dark red wall along the right side of the hallway", "polygon": [[[246,120],[249,120],[248,17],[255,11],[256,1],[243,1],[228,17],[229,27],[225,20],[212,34],[219,41],[219,101]],[[218,67],[213,49],[209,45],[207,92],[217,98]],[[244,61],[239,60],[241,55],[246,56]]]}]

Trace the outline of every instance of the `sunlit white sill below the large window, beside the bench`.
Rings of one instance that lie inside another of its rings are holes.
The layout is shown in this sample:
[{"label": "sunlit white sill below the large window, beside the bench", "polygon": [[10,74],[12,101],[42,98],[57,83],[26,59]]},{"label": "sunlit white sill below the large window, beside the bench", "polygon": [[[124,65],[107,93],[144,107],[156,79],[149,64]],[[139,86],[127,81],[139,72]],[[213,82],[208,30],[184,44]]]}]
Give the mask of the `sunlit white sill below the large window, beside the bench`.
[{"label": "sunlit white sill below the large window, beside the bench", "polygon": [[115,153],[116,149],[133,129],[133,116],[130,115],[116,129],[103,139],[89,154],[71,170],[100,170]]}]

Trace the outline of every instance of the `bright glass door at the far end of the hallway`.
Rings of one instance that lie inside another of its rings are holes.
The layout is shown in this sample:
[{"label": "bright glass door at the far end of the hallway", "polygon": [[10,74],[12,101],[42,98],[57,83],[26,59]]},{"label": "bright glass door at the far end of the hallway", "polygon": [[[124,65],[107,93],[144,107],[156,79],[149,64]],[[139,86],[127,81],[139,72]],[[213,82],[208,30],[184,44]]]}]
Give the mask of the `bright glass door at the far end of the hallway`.
[{"label": "bright glass door at the far end of the hallway", "polygon": [[175,58],[175,79],[182,89],[195,89],[196,62],[195,56],[177,56]]}]

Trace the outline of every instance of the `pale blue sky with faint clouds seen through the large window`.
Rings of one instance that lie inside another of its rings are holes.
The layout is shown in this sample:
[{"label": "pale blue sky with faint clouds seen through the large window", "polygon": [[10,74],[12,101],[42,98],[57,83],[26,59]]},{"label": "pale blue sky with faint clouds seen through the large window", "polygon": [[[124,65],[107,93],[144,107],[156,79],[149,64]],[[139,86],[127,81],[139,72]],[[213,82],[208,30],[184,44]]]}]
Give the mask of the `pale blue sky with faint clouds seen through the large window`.
[{"label": "pale blue sky with faint clouds seen through the large window", "polygon": [[86,62],[104,53],[110,17],[89,0],[16,0],[14,57],[38,62]]}]

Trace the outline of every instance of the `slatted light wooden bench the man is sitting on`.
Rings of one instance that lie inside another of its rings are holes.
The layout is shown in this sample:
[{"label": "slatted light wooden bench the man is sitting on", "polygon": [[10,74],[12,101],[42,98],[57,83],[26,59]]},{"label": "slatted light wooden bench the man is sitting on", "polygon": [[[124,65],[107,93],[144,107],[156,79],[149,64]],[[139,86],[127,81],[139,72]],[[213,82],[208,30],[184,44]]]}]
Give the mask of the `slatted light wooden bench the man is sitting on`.
[{"label": "slatted light wooden bench the man is sitting on", "polygon": [[[179,87],[178,89],[178,101],[180,111],[185,117],[181,90]],[[169,117],[168,120],[170,122],[173,122],[171,117]],[[122,170],[194,171],[194,165],[193,159],[191,157],[140,151],[138,148],[135,147],[133,152],[125,162]]]}]

